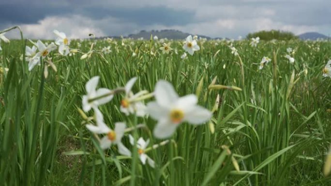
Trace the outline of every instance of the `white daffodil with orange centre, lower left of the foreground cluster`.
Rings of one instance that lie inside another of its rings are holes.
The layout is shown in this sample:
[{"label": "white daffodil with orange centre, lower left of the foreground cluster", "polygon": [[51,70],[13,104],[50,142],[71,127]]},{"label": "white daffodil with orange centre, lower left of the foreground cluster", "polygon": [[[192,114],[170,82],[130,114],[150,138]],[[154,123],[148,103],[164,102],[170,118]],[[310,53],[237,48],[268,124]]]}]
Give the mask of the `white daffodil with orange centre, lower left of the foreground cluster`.
[{"label": "white daffodil with orange centre, lower left of the foreground cluster", "polygon": [[121,155],[131,156],[130,150],[121,142],[126,127],[125,123],[115,123],[115,129],[112,130],[105,124],[104,116],[99,109],[94,109],[94,113],[97,126],[88,124],[86,125],[86,128],[95,134],[106,134],[100,141],[100,147],[102,149],[107,149],[110,148],[112,144],[117,144]]}]

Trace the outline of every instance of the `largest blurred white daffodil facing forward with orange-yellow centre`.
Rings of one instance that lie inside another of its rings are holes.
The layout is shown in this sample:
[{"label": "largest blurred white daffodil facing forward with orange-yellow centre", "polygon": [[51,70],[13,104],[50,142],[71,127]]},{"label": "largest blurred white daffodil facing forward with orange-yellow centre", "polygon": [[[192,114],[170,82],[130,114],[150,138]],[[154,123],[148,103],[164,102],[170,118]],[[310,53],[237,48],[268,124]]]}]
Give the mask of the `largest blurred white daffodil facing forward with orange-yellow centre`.
[{"label": "largest blurred white daffodil facing forward with orange-yellow centre", "polygon": [[147,112],[158,120],[153,131],[157,138],[170,137],[183,121],[202,124],[211,118],[209,110],[196,105],[196,95],[180,98],[173,86],[164,80],[156,83],[154,95],[156,101],[148,103]]}]

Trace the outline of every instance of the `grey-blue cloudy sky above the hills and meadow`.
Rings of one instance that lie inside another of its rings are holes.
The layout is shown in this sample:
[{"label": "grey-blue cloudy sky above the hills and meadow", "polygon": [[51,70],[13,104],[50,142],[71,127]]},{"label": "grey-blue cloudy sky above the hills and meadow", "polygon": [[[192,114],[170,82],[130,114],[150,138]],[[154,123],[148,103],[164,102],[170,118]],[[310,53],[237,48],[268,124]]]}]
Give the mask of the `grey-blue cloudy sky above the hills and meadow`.
[{"label": "grey-blue cloudy sky above the hills and meadow", "polygon": [[0,0],[0,29],[19,25],[31,39],[52,39],[54,29],[71,38],[143,29],[228,38],[262,29],[330,36],[330,7],[331,0]]}]

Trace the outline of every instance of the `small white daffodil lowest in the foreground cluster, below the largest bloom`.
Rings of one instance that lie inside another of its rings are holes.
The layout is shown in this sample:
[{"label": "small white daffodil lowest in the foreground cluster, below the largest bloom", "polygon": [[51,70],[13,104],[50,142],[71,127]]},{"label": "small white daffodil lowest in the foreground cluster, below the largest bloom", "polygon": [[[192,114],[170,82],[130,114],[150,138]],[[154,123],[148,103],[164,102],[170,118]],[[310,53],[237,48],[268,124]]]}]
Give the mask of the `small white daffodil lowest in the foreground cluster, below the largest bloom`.
[{"label": "small white daffodil lowest in the foreground cluster, below the largest bloom", "polygon": [[[129,135],[129,139],[130,139],[130,143],[132,145],[135,145],[135,139],[134,139],[134,137],[132,137],[132,135]],[[145,153],[145,150],[146,150],[146,148],[147,148],[147,146],[148,146],[149,143],[150,143],[150,139],[148,139],[147,141],[145,141],[141,137],[138,139],[138,141],[137,141],[138,155],[139,155],[139,159],[140,159],[140,161],[142,162],[143,165],[146,164],[146,160],[147,160],[147,162],[150,165],[150,167],[154,168],[155,167],[154,160],[152,160]]]}]

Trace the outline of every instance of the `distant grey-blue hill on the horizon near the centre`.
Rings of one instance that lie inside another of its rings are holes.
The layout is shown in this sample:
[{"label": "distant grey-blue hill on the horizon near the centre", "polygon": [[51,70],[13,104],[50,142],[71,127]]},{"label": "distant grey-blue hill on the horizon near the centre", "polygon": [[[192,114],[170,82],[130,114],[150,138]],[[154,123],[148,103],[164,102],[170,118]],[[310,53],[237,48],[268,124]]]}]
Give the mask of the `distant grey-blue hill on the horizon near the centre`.
[{"label": "distant grey-blue hill on the horizon near the centre", "polygon": [[[181,40],[181,39],[185,39],[189,35],[192,35],[192,36],[195,35],[195,34],[184,33],[182,31],[174,30],[174,29],[164,29],[164,30],[160,30],[160,31],[159,30],[151,30],[151,31],[141,30],[139,33],[128,35],[128,37],[134,38],[134,39],[144,38],[145,40],[149,40],[150,34],[152,34],[153,37],[157,36],[159,39],[167,38],[167,39],[173,39],[173,40]],[[197,36],[211,39],[210,37],[203,36],[203,35],[197,35]]]}]

